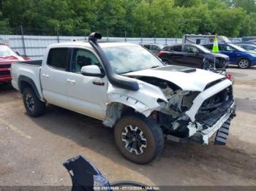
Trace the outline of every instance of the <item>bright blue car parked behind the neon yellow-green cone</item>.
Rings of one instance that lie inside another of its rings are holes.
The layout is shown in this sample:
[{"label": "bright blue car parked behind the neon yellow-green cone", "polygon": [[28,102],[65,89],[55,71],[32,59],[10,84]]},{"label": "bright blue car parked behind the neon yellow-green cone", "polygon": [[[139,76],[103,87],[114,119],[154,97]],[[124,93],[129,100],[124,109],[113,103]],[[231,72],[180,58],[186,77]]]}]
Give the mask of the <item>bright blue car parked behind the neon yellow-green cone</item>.
[{"label": "bright blue car parked behind the neon yellow-green cone", "polygon": [[[203,44],[204,47],[212,50],[214,44]],[[248,69],[256,65],[256,54],[238,47],[236,44],[219,44],[219,52],[230,57],[230,64],[238,65],[240,69]]]}]

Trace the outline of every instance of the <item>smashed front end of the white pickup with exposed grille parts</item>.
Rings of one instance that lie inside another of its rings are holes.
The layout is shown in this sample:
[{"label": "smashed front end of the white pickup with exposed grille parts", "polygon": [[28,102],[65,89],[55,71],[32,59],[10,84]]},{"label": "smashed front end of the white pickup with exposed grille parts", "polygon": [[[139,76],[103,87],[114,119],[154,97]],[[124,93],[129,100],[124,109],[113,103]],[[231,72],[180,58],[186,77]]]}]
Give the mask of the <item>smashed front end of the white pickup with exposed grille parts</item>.
[{"label": "smashed front end of the white pickup with exposed grille parts", "polygon": [[192,139],[208,144],[208,139],[217,132],[215,144],[226,143],[230,120],[236,111],[229,80],[211,83],[203,92],[175,90],[167,82],[159,87],[168,102],[159,100],[161,107],[151,115],[162,126],[167,139],[179,142]]}]

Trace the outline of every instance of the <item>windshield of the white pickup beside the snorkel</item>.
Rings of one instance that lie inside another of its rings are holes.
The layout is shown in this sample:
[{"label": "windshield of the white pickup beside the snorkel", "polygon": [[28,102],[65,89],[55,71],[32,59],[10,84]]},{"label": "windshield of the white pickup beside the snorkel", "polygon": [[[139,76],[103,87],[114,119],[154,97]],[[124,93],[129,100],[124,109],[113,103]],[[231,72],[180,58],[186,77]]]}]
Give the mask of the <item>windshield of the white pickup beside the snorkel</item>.
[{"label": "windshield of the white pickup beside the snorkel", "polygon": [[164,66],[151,52],[138,45],[103,48],[116,74]]}]

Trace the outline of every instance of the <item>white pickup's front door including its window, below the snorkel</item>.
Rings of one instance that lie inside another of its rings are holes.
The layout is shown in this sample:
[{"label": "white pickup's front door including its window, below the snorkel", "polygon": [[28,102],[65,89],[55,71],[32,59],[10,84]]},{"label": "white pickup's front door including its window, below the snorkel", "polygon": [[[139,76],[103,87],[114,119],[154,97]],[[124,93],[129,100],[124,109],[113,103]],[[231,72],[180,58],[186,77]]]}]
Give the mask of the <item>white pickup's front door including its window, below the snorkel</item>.
[{"label": "white pickup's front door including its window, below the snorkel", "polygon": [[72,50],[71,69],[67,76],[69,108],[75,112],[103,120],[107,102],[107,77],[83,76],[83,66],[97,65],[103,71],[99,59],[91,50],[74,48]]}]

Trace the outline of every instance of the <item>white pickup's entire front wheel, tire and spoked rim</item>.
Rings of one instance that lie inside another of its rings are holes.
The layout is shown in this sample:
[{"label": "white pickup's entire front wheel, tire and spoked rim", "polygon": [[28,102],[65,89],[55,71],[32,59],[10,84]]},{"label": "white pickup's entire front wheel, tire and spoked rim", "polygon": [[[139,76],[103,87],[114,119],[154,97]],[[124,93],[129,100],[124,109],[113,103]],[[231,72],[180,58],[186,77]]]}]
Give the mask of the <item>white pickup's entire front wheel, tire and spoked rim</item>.
[{"label": "white pickup's entire front wheel, tire and spoked rim", "polygon": [[156,122],[140,114],[121,117],[114,134],[121,154],[134,163],[149,163],[164,148],[162,129]]}]

